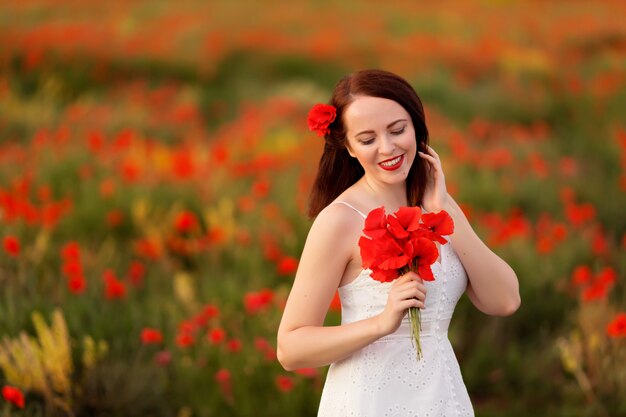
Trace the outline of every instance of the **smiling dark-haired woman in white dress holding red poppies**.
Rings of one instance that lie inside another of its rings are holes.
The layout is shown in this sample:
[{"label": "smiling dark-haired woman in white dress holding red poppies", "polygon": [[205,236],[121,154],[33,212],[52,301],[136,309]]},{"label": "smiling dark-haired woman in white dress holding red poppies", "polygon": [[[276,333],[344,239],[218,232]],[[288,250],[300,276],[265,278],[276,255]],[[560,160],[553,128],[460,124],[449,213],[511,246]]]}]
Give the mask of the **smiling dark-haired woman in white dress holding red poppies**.
[{"label": "smiling dark-haired woman in white dress holding red poppies", "polygon": [[[359,71],[337,83],[331,105],[335,117],[318,126],[325,145],[310,198],[315,221],[278,329],[278,360],[288,371],[330,364],[319,416],[471,416],[447,337],[450,318],[464,292],[486,314],[515,312],[515,272],[485,246],[447,193],[409,83],[386,71]],[[450,214],[455,229],[438,245],[434,281],[409,272],[383,283],[362,268],[363,220],[380,206],[387,213],[420,206]],[[324,326],[337,289],[341,325]],[[422,309],[419,361],[409,307]]]}]

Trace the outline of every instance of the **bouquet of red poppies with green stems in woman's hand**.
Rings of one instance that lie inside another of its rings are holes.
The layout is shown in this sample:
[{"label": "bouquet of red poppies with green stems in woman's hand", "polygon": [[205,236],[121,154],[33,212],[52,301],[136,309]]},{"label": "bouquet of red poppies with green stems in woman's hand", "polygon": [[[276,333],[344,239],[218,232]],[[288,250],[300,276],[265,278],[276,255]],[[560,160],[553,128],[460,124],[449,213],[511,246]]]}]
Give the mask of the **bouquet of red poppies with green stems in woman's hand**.
[{"label": "bouquet of red poppies with green stems in woman's hand", "polygon": [[[391,282],[409,271],[424,281],[434,281],[431,265],[439,257],[435,241],[447,243],[443,235],[453,231],[454,222],[445,210],[422,214],[420,207],[400,207],[394,214],[386,214],[384,207],[376,208],[367,215],[365,236],[359,239],[363,268],[370,269],[372,278],[380,282]],[[419,308],[410,307],[409,318],[419,360]]]}]

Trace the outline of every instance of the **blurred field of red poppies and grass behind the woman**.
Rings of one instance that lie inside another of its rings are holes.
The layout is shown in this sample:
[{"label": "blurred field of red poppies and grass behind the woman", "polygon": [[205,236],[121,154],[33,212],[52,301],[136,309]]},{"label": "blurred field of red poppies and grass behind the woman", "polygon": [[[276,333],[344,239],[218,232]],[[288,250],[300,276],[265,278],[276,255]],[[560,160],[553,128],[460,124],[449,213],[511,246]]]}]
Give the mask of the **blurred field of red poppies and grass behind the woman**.
[{"label": "blurred field of red poppies and grass behind the woman", "polygon": [[[314,416],[276,331],[311,221],[306,114],[362,68],[422,98],[522,306],[467,297],[477,416],[626,415],[626,3],[0,5],[0,410]],[[340,322],[335,298],[327,324]]]}]

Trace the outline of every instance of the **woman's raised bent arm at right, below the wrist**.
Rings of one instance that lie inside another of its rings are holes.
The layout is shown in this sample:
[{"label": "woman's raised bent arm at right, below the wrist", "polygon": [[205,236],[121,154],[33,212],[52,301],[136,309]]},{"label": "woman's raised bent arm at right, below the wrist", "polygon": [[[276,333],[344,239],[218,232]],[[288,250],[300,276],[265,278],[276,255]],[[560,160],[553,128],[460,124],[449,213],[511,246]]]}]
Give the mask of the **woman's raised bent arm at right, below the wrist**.
[{"label": "woman's raised bent arm at right, below the wrist", "polygon": [[461,207],[446,194],[443,209],[454,220],[450,241],[469,278],[468,297],[485,314],[509,316],[515,313],[521,303],[515,271],[480,240]]}]

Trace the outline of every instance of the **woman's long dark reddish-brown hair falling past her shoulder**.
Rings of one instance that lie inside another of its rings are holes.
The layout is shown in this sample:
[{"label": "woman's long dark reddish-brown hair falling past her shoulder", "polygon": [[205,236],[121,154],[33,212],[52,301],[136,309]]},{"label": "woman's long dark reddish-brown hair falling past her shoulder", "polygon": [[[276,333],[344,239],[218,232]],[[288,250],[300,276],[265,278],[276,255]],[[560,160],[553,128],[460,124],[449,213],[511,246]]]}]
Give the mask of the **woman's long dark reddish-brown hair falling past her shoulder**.
[{"label": "woman's long dark reddish-brown hair falling past her shoulder", "polygon": [[[365,173],[359,161],[352,158],[346,149],[343,113],[356,95],[386,98],[400,104],[413,121],[417,149],[424,151],[428,145],[428,129],[422,101],[404,78],[376,69],[346,75],[335,86],[330,101],[337,109],[337,116],[329,126],[330,133],[324,136],[324,153],[309,196],[310,218],[316,217]],[[425,162],[416,155],[406,181],[406,197],[410,206],[421,204],[427,179],[426,169]]]}]

